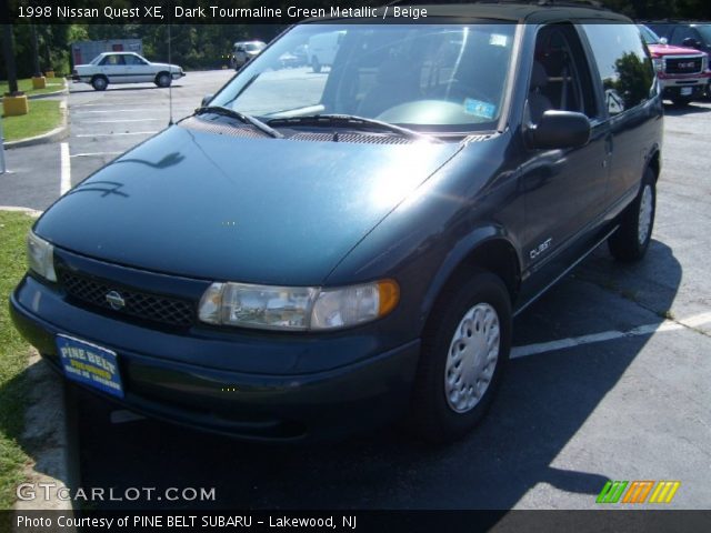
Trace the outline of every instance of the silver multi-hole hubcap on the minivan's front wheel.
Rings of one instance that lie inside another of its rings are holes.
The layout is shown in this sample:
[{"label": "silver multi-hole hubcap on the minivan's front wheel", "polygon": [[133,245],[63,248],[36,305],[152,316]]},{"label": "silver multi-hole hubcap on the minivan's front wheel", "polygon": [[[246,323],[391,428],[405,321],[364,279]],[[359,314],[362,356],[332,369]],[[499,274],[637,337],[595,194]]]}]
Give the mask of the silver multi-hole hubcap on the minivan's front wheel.
[{"label": "silver multi-hole hubcap on the minivan's front wheel", "polygon": [[479,303],[464,314],[444,368],[444,394],[452,411],[471,411],[489,389],[499,361],[499,315],[491,305]]}]

